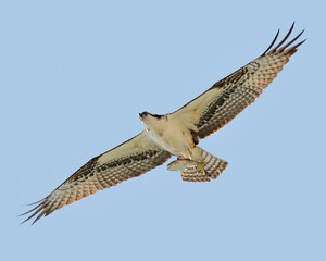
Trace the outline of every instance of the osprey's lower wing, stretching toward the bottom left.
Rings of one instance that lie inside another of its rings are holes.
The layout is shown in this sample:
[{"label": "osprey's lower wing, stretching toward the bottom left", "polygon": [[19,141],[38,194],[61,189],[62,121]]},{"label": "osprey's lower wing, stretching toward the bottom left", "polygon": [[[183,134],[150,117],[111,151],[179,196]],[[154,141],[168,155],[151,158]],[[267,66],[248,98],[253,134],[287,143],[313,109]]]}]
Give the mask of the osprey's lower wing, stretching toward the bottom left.
[{"label": "osprey's lower wing, stretching toward the bottom left", "polygon": [[34,224],[43,215],[47,216],[66,204],[139,176],[163,164],[170,158],[170,152],[158,147],[147,133],[142,132],[88,161],[48,197],[39,201],[38,206],[24,213],[33,212],[24,222],[38,214]]}]

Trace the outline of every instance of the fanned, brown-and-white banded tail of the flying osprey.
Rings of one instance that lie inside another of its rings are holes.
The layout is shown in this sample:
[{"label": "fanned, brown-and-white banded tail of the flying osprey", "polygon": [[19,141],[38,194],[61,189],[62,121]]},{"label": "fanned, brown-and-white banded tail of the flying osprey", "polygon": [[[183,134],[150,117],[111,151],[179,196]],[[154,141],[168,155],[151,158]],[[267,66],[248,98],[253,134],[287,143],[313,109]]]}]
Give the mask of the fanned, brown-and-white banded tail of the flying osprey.
[{"label": "fanned, brown-and-white banded tail of the flying osprey", "polygon": [[185,171],[181,171],[181,177],[185,182],[210,182],[211,178],[216,179],[228,164],[227,161],[221,160],[203,149],[201,149],[201,156],[202,161],[205,162],[202,165],[205,173],[196,165],[187,167]]}]

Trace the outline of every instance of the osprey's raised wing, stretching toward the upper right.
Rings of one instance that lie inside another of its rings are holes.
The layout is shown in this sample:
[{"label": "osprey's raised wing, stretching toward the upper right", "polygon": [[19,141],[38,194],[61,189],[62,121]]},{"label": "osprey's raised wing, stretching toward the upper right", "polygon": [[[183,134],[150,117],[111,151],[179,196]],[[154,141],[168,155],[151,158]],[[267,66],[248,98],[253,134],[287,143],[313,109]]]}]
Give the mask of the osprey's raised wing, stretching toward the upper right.
[{"label": "osprey's raised wing, stretching toward the upper right", "polygon": [[[293,29],[272,49],[279,30],[267,50],[258,59],[214,84],[171,116],[192,124],[193,138],[205,138],[217,132],[250,105],[283,70],[297,48],[291,46],[303,30],[288,44],[285,41]],[[272,49],[272,50],[271,50]]]}]

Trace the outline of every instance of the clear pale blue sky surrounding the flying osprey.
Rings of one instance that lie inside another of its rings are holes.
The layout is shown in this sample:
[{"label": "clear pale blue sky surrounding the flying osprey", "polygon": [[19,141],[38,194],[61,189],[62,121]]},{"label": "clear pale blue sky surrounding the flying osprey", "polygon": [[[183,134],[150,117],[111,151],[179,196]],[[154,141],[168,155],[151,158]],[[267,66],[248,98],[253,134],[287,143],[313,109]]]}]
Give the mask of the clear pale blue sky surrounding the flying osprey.
[{"label": "clear pale blue sky surrounding the flying osprey", "polygon": [[[325,1],[2,1],[2,260],[326,260]],[[218,179],[166,165],[20,225],[90,158],[305,28],[256,102],[201,147]]]}]

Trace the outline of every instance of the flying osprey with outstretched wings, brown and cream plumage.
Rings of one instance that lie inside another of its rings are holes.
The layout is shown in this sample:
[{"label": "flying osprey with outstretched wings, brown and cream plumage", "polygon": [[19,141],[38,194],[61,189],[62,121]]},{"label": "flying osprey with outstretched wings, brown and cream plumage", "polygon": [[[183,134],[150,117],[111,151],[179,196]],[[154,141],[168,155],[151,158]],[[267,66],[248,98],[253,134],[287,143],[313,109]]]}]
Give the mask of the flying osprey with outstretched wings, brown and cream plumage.
[{"label": "flying osprey with outstretched wings, brown and cream plumage", "polygon": [[229,123],[272,83],[304,42],[292,45],[302,30],[286,44],[293,26],[294,23],[276,47],[273,48],[279,30],[262,55],[217,82],[176,112],[165,115],[140,113],[139,119],[145,125],[140,134],[89,160],[49,196],[36,202],[38,204],[34,209],[24,213],[32,212],[24,222],[36,216],[34,224],[64,206],[139,176],[172,156],[180,162],[171,169],[176,170],[179,163],[184,181],[209,182],[216,178],[226,169],[227,162],[198,147],[199,139]]}]

